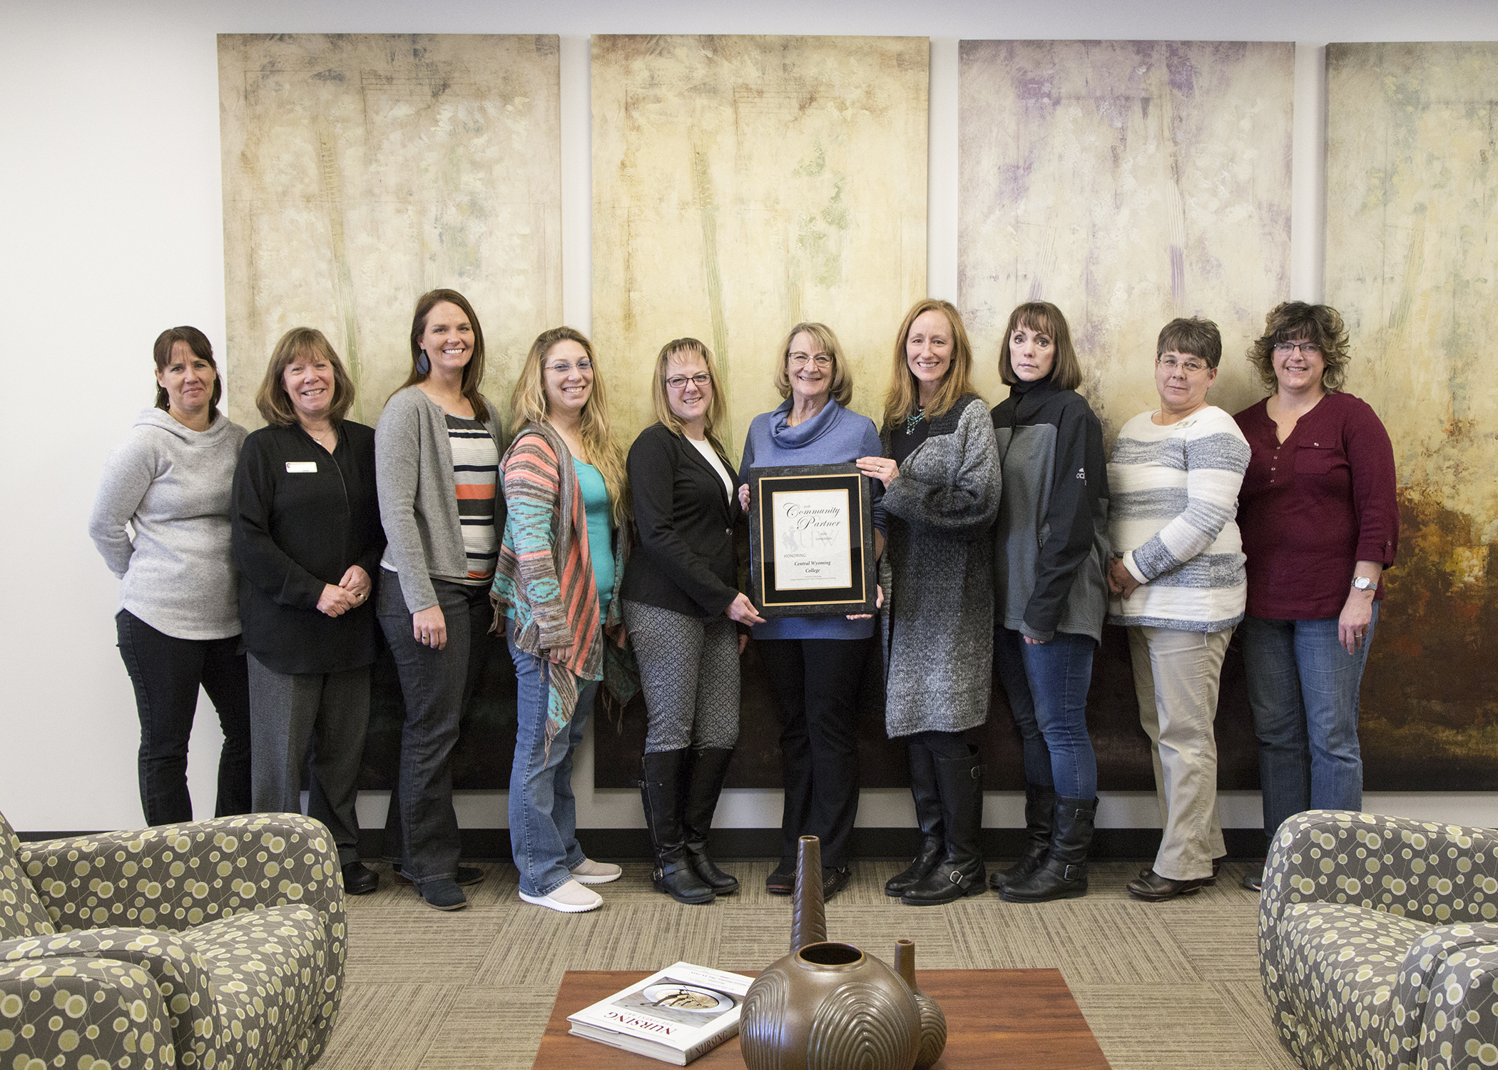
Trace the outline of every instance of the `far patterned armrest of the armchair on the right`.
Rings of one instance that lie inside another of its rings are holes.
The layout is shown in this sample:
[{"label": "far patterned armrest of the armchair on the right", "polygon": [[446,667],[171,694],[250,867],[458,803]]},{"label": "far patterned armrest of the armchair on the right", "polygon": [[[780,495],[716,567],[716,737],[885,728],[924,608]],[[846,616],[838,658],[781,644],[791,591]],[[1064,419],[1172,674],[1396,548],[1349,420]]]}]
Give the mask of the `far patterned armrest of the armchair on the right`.
[{"label": "far patterned armrest of the armchair on the right", "polygon": [[1261,931],[1294,902],[1368,907],[1432,925],[1498,922],[1498,832],[1351,811],[1296,814],[1270,842]]}]

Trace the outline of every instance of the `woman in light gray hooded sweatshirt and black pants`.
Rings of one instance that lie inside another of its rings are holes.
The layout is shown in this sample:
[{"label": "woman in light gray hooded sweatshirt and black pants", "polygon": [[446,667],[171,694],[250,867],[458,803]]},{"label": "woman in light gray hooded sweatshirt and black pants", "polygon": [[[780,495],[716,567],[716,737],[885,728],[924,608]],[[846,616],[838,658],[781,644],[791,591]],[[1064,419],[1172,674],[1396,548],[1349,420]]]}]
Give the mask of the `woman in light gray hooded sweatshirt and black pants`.
[{"label": "woman in light gray hooded sweatshirt and black pants", "polygon": [[109,453],[88,517],[88,535],[121,580],[114,622],[141,716],[147,824],[192,820],[187,739],[199,685],[223,728],[214,817],[250,811],[250,685],[229,550],[244,429],[219,412],[222,393],[204,333],[162,331],[156,408]]}]

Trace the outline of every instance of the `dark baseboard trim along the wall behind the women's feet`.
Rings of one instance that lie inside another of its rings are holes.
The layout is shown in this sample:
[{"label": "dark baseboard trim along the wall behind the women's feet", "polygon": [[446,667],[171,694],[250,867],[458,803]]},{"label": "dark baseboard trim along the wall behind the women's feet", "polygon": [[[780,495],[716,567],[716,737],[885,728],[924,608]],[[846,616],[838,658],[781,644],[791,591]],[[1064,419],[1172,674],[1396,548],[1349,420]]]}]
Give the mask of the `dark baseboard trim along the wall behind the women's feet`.
[{"label": "dark baseboard trim along the wall behind the women's feet", "polygon": [[[90,832],[18,832],[24,842],[90,836]],[[509,829],[463,829],[463,857],[473,862],[509,859]],[[1230,859],[1261,859],[1269,838],[1263,829],[1224,829]],[[650,857],[646,829],[578,829],[577,839],[595,859],[625,862]],[[1149,859],[1159,847],[1159,829],[1098,829],[1092,838],[1094,859]],[[360,854],[379,859],[385,853],[385,830],[360,832]],[[1016,857],[1025,848],[1023,829],[984,829],[983,853],[993,859]],[[854,829],[852,854],[860,859],[905,859],[920,850],[917,829]],[[780,853],[779,829],[716,829],[713,854],[721,859],[773,859]]]}]

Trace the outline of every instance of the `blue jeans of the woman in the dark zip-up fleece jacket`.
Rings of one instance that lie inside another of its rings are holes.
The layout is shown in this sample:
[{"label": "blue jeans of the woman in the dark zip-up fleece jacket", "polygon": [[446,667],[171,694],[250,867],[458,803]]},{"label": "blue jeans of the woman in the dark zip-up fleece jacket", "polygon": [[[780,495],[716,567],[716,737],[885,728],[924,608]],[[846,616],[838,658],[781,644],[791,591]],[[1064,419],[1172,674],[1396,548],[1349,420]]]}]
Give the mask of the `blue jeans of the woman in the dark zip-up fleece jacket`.
[{"label": "blue jeans of the woman in the dark zip-up fleece jacket", "polygon": [[1050,643],[1031,646],[1017,631],[993,631],[993,668],[1025,740],[1025,779],[1055,787],[1064,799],[1098,794],[1098,758],[1088,736],[1095,649],[1091,635],[1059,631]]}]

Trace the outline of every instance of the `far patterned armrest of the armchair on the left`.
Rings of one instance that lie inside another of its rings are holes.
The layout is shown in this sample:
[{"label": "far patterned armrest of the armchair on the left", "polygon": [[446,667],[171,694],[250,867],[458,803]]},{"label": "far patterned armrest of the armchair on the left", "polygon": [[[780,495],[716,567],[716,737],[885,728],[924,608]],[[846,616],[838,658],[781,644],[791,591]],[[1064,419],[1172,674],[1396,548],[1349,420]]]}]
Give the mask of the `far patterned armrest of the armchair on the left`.
[{"label": "far patterned armrest of the armchair on the left", "polygon": [[298,814],[36,841],[21,845],[21,865],[58,932],[181,931],[291,902],[316,910],[343,943],[337,847],[321,821]]}]

